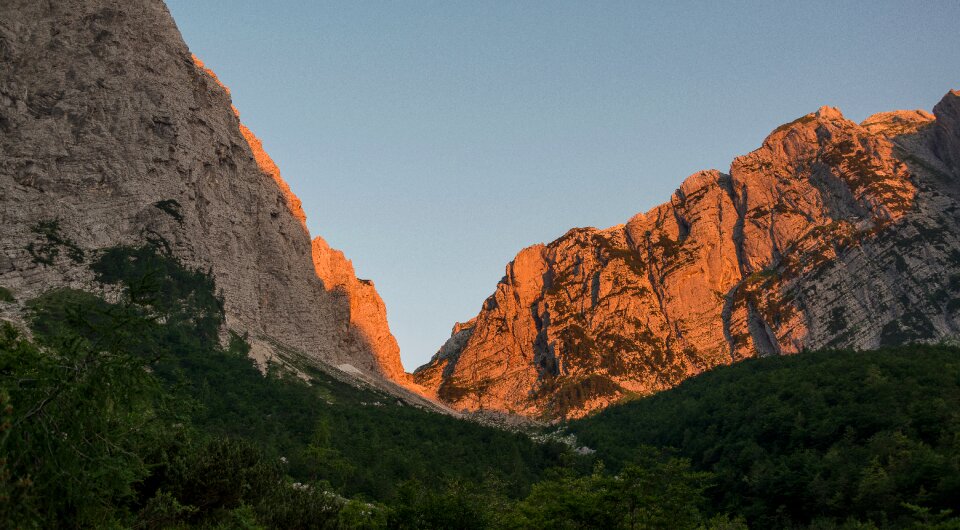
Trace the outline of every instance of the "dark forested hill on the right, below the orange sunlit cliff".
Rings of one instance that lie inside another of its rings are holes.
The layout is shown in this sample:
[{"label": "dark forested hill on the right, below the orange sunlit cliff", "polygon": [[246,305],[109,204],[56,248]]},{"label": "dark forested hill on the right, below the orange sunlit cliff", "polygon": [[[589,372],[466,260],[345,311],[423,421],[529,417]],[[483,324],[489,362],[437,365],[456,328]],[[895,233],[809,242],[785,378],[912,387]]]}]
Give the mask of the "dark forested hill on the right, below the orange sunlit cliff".
[{"label": "dark forested hill on the right, below the orange sunlit cliff", "polygon": [[[751,525],[960,513],[960,350],[908,346],[749,360],[573,422],[615,467],[672,446]],[[830,523],[833,524],[833,523]],[[912,523],[911,523],[912,524]]]}]

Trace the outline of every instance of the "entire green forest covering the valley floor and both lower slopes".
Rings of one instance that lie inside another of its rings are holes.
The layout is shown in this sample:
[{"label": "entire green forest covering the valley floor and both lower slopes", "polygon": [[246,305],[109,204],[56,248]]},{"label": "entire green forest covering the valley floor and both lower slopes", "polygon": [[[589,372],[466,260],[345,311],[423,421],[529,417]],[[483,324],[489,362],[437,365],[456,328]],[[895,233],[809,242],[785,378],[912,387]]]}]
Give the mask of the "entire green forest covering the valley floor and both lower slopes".
[{"label": "entire green forest covering the valley floor and both lower slopes", "polygon": [[261,373],[162,240],[74,254],[107,294],[0,326],[0,528],[960,528],[954,348],[747,361],[514,433]]}]

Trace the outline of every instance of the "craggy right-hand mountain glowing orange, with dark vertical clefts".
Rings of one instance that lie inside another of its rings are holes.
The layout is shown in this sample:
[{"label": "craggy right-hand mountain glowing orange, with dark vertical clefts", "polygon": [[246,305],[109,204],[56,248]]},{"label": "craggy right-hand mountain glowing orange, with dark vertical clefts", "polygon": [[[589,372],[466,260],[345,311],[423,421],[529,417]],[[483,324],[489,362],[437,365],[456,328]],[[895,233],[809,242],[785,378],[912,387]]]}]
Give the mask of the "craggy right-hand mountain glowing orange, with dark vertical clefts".
[{"label": "craggy right-hand mountain glowing orange, with dark vertical clefts", "polygon": [[521,251],[415,373],[453,408],[578,417],[714,366],[960,329],[960,94],[819,111],[728,173]]}]

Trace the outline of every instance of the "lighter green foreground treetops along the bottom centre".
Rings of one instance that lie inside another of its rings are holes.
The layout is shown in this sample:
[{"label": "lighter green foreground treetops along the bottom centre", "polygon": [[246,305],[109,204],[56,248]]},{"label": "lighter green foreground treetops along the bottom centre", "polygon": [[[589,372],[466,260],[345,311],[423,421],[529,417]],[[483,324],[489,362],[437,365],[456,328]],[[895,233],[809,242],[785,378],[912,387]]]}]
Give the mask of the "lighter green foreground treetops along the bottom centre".
[{"label": "lighter green foreground treetops along the bottom centre", "polygon": [[[452,482],[431,491],[417,482],[401,487],[390,517],[393,528],[744,528],[739,521],[708,520],[704,488],[709,474],[652,448],[616,475],[598,464],[592,473],[557,468],[519,502],[496,482]],[[716,522],[725,522],[719,526]]]}]

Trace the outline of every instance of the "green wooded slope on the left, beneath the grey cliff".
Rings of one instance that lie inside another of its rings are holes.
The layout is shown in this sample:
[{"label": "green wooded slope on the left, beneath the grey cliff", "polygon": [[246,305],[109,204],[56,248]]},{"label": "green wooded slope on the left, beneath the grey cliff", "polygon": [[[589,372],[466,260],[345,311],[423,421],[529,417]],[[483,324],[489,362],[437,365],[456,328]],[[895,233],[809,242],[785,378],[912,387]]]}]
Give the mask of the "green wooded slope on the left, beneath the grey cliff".
[{"label": "green wooded slope on the left, beneath the grey cliff", "polygon": [[304,367],[262,374],[222,347],[212,279],[157,246],[92,265],[121,288],[28,304],[36,343],[0,340],[0,527],[382,527],[411,479],[523,495],[560,444],[402,405]]}]

